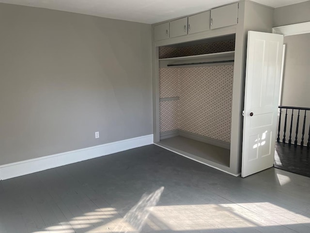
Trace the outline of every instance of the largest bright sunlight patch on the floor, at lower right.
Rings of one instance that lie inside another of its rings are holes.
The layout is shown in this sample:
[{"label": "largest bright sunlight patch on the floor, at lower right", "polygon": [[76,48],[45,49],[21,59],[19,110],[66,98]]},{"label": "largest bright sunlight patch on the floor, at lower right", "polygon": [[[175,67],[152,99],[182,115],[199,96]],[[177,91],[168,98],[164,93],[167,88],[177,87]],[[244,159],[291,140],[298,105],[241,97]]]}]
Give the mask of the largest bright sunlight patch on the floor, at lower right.
[{"label": "largest bright sunlight patch on the floor, at lower right", "polygon": [[269,202],[156,206],[151,215],[173,231],[309,224],[310,218]]}]

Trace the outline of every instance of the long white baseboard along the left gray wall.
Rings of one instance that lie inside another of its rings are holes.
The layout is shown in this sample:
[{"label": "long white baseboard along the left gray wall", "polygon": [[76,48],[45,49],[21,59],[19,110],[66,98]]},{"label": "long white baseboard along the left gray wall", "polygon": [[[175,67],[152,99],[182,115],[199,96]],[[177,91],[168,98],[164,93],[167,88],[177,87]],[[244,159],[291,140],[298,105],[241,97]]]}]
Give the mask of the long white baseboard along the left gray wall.
[{"label": "long white baseboard along the left gray wall", "polygon": [[111,142],[99,146],[72,150],[40,158],[24,160],[12,164],[0,165],[0,180],[23,176],[49,168],[73,164],[124,150],[153,144],[153,134]]}]

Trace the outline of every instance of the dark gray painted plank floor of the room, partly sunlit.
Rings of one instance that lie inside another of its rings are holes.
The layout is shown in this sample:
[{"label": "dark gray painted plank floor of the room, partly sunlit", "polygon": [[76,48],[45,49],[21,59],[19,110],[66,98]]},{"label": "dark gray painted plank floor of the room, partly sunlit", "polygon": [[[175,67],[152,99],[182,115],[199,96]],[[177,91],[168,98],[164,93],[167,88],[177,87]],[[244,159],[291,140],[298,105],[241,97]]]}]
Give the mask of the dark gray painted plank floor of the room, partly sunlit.
[{"label": "dark gray painted plank floor of the room, partly sunlit", "polygon": [[310,233],[310,178],[155,145],[0,181],[0,233]]}]

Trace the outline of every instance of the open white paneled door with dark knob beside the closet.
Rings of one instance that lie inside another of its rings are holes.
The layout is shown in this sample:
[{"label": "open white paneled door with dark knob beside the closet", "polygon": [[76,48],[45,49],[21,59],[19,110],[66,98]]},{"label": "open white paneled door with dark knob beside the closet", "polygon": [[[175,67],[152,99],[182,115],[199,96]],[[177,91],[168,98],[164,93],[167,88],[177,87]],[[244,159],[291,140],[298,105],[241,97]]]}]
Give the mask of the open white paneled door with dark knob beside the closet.
[{"label": "open white paneled door with dark knob beside the closet", "polygon": [[283,35],[248,32],[242,177],[273,166],[282,46]]}]

